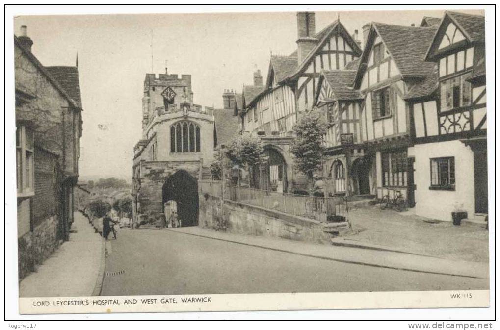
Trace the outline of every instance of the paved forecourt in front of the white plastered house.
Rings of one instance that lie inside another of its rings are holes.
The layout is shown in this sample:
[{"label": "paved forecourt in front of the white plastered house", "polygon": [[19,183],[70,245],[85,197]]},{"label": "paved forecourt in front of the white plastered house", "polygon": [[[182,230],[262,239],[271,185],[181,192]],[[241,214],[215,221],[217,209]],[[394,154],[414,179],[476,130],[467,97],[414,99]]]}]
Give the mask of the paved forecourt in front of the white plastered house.
[{"label": "paved forecourt in front of the white plastered house", "polygon": [[489,232],[484,225],[456,226],[451,221],[416,216],[411,209],[396,212],[378,206],[349,210],[349,221],[354,232],[332,239],[333,244],[488,262]]}]

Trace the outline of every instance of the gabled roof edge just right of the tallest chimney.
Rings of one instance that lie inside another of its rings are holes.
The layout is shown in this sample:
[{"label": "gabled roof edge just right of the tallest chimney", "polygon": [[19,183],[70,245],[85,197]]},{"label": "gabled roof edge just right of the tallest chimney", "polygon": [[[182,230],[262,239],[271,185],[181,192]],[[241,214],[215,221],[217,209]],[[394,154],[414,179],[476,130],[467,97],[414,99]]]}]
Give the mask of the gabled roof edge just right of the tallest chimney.
[{"label": "gabled roof edge just right of the tallest chimney", "polygon": [[[324,43],[328,40],[328,36],[331,34],[331,32],[336,31],[338,34],[342,35],[342,37],[345,39],[345,41],[349,44],[349,46],[352,48],[352,51],[357,53],[359,56],[361,54],[361,48],[359,48],[359,45],[354,41],[352,36],[347,32],[345,27],[340,23],[338,19],[334,20],[331,24],[323,28],[319,33],[315,35],[315,38],[317,38],[319,41],[316,43],[314,48],[309,51],[307,56],[305,56],[304,60],[300,65],[298,65],[297,69],[293,74],[290,74],[286,77],[286,79],[294,79],[298,74],[300,74],[303,70],[307,68],[307,65],[309,65],[309,62],[314,59],[314,55],[316,52],[323,47]],[[285,79],[278,80],[279,82],[282,82]]]}]

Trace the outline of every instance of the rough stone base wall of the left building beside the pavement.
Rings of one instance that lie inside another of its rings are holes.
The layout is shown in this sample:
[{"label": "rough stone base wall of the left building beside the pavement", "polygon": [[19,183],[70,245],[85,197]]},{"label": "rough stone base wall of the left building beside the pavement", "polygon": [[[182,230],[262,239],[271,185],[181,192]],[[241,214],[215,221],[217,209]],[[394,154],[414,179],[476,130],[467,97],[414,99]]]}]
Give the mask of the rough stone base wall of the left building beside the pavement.
[{"label": "rough stone base wall of the left building beside the pavement", "polygon": [[36,265],[57,248],[57,225],[57,215],[50,216],[17,239],[19,280],[35,271]]}]

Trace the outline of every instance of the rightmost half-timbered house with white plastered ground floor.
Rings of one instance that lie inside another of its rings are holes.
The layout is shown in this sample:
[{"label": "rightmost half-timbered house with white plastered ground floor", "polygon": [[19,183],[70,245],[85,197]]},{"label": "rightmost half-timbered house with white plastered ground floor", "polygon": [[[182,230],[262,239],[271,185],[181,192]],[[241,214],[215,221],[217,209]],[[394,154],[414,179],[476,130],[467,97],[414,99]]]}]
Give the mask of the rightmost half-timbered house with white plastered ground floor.
[{"label": "rightmost half-timbered house with white plastered ground floor", "polygon": [[416,214],[487,213],[484,16],[447,11],[427,47],[435,71],[409,90]]}]

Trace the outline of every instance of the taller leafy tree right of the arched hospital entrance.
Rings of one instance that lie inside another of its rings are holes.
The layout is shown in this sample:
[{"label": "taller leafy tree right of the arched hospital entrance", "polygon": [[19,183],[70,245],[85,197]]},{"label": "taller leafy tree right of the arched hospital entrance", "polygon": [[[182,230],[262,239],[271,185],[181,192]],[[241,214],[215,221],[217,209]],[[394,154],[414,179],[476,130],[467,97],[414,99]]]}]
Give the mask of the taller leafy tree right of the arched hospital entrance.
[{"label": "taller leafy tree right of the arched hospital entrance", "polygon": [[293,131],[295,138],[290,145],[290,152],[295,157],[297,169],[307,175],[312,183],[312,175],[321,169],[323,161],[326,122],[317,110],[312,110],[293,125]]}]

